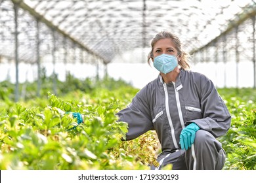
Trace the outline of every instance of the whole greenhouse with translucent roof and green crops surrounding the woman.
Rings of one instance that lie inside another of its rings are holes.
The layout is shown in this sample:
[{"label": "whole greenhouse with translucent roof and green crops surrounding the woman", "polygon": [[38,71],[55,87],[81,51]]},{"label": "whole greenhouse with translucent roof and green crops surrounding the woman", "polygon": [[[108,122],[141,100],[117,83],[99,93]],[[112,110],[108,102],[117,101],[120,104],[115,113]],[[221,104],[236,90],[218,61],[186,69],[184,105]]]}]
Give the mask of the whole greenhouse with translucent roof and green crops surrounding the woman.
[{"label": "whole greenhouse with translucent roof and green crops surrounding the woman", "polygon": [[116,114],[160,75],[150,42],[170,31],[230,112],[223,169],[255,170],[255,17],[255,0],[0,0],[1,169],[157,167],[160,136],[123,141]]}]

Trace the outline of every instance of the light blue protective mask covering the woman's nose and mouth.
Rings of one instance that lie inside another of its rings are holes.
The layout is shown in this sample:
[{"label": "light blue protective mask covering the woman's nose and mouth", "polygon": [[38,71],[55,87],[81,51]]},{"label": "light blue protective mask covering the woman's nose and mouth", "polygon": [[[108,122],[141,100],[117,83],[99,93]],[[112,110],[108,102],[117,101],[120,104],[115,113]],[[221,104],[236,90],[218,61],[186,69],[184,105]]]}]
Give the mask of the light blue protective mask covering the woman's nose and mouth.
[{"label": "light blue protective mask covering the woman's nose and mouth", "polygon": [[157,56],[154,58],[154,67],[158,69],[163,74],[170,73],[177,67],[178,61],[175,56],[168,55],[168,54],[161,54],[160,56]]}]

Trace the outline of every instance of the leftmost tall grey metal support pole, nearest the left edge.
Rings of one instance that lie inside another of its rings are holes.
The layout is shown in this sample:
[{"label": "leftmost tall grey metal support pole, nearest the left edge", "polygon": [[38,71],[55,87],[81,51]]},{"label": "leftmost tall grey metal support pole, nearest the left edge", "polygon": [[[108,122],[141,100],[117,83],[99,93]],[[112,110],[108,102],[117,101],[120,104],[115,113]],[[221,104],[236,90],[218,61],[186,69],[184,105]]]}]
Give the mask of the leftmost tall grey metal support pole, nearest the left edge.
[{"label": "leftmost tall grey metal support pole, nearest the left edge", "polygon": [[15,102],[19,100],[19,81],[18,81],[18,5],[14,4],[14,37],[15,37],[15,66],[16,66],[16,84],[15,84]]}]

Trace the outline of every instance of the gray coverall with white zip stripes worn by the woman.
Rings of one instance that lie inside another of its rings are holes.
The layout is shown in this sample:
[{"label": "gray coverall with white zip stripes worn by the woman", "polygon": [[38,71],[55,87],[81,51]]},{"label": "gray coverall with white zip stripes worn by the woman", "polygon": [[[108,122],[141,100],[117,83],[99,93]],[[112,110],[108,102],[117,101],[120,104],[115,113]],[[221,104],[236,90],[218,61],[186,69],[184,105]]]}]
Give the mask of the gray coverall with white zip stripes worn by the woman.
[{"label": "gray coverall with white zip stripes worn by the woman", "polygon": [[[206,76],[181,69],[176,82],[166,84],[161,75],[148,83],[131,104],[117,112],[119,121],[127,122],[126,140],[148,130],[156,130],[161,144],[160,167],[171,163],[173,169],[222,169],[225,152],[217,137],[230,128],[231,116]],[[191,122],[200,130],[194,144],[181,150],[181,130]]]}]

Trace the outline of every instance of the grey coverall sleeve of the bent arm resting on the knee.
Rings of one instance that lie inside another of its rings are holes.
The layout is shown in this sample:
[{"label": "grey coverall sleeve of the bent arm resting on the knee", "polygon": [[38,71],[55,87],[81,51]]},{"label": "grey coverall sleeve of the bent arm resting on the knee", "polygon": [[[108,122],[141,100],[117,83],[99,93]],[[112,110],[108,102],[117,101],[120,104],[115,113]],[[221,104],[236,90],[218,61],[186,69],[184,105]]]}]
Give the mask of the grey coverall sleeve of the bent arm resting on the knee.
[{"label": "grey coverall sleeve of the bent arm resting on the knee", "polygon": [[[203,118],[192,122],[196,123],[200,129],[209,131],[214,137],[221,137],[230,128],[230,113],[213,82],[206,76],[201,76],[200,82]],[[186,125],[188,124],[190,122]]]}]

